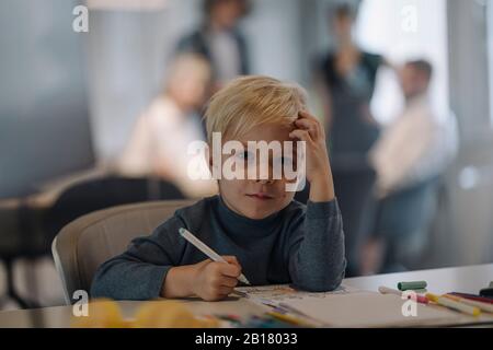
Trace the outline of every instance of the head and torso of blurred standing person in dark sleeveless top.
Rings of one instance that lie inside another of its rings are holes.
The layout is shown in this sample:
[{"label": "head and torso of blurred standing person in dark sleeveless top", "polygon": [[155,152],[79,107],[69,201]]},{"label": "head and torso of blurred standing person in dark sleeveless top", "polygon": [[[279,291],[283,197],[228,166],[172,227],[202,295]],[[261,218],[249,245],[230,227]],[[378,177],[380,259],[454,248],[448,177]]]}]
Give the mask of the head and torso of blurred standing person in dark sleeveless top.
[{"label": "head and torso of blurred standing person in dark sleeveless top", "polygon": [[370,114],[377,71],[383,59],[363,51],[354,42],[356,10],[339,4],[330,12],[335,50],[321,61],[318,86],[324,101],[330,137],[328,147],[334,161],[353,159],[365,162],[379,136],[379,126]]}]

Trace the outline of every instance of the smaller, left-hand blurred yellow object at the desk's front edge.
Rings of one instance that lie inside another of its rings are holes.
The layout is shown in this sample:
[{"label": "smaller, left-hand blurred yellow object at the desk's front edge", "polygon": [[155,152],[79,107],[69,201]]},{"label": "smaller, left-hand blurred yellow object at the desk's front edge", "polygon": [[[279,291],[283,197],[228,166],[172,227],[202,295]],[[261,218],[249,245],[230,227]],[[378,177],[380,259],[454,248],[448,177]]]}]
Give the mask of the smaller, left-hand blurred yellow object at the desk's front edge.
[{"label": "smaller, left-hand blurred yellow object at the desk's front edge", "polygon": [[127,328],[118,304],[110,299],[98,299],[88,304],[88,316],[72,316],[74,328]]}]

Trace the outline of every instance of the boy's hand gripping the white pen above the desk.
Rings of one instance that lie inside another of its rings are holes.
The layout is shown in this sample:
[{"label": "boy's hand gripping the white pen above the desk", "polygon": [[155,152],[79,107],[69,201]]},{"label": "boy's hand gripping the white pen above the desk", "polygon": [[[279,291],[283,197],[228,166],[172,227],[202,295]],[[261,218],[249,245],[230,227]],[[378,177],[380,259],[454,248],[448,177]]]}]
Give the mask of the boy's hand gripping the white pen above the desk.
[{"label": "boy's hand gripping the white pen above the desk", "polygon": [[205,301],[218,301],[228,296],[238,284],[241,266],[233,256],[222,256],[228,264],[210,259],[195,264],[192,290]]}]

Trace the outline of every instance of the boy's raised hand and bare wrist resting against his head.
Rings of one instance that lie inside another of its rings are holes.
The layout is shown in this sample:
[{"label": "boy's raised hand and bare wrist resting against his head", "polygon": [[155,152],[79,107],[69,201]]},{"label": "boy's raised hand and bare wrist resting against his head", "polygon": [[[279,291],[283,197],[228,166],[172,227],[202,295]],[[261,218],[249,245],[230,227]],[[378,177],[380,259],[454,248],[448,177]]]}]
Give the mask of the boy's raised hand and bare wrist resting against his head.
[{"label": "boy's raised hand and bare wrist resting against his head", "polygon": [[310,183],[311,201],[334,199],[334,185],[325,144],[325,130],[320,121],[307,112],[300,112],[289,137],[306,141],[306,174]]}]

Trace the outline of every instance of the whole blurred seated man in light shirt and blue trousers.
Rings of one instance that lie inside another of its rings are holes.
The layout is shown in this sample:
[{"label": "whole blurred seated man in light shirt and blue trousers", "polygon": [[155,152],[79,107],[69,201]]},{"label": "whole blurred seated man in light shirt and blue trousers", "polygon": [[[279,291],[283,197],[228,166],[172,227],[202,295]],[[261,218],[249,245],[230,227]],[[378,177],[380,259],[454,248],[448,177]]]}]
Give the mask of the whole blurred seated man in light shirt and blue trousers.
[{"label": "whole blurred seated man in light shirt and blue trousers", "polygon": [[[366,273],[416,268],[436,212],[439,178],[457,152],[455,118],[439,118],[429,102],[432,65],[406,62],[399,71],[402,114],[370,151],[377,171],[376,238],[365,248]],[[372,253],[371,253],[372,252]],[[380,253],[375,253],[380,252]],[[378,256],[382,261],[378,261]]]}]

